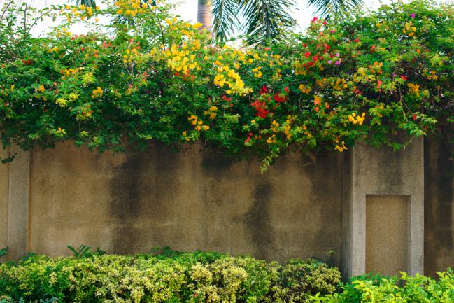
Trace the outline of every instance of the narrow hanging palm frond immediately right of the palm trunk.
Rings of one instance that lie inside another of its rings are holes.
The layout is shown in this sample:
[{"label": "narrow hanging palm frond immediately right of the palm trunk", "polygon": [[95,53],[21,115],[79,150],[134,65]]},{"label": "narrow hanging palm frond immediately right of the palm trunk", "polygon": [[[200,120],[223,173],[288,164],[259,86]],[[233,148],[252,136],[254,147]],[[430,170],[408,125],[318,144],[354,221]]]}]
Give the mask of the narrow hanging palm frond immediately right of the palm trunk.
[{"label": "narrow hanging palm frond immediately right of the palm trunk", "polygon": [[239,0],[213,1],[213,33],[218,41],[225,41],[238,28]]}]

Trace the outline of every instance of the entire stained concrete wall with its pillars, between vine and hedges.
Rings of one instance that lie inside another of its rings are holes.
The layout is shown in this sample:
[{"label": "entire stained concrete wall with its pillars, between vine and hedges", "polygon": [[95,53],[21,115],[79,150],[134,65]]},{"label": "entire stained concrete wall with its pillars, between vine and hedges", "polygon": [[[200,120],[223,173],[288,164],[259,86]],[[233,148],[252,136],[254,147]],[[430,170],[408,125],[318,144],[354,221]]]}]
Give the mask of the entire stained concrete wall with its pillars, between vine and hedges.
[{"label": "entire stained concrete wall with its pillars, between vine and hedges", "polygon": [[408,228],[387,231],[407,242],[394,239],[402,249],[390,248],[390,257],[406,250],[410,272],[421,272],[425,259],[433,275],[454,267],[454,146],[444,142],[432,136],[424,150],[416,140],[398,153],[360,145],[315,162],[290,154],[265,174],[255,160],[197,146],[99,155],[65,143],[19,153],[0,165],[0,248],[12,248],[10,259],[87,244],[108,253],[171,246],[279,261],[334,250],[345,274],[362,274],[379,267],[367,265],[367,246],[381,245],[367,243],[367,217],[387,211],[378,203],[367,214],[367,197],[396,195],[409,197]]}]

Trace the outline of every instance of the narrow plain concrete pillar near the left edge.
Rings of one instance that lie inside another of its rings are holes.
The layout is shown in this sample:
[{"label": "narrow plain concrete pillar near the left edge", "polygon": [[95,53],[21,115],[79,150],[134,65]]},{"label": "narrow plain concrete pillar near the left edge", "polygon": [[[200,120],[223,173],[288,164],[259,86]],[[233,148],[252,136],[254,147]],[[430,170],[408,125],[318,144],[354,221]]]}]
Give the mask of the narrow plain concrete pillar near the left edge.
[{"label": "narrow plain concrete pillar near the left edge", "polygon": [[30,153],[17,146],[10,153],[15,158],[9,163],[8,259],[17,260],[28,252]]}]

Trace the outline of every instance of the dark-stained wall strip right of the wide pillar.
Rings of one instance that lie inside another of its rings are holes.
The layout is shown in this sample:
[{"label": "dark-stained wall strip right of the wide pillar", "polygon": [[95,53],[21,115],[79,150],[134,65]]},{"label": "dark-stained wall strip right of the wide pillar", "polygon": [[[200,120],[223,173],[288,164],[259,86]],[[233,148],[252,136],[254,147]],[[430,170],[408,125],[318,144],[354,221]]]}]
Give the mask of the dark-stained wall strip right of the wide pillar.
[{"label": "dark-stained wall strip right of the wide pillar", "polygon": [[434,276],[454,268],[454,143],[425,140],[425,174],[425,273]]}]

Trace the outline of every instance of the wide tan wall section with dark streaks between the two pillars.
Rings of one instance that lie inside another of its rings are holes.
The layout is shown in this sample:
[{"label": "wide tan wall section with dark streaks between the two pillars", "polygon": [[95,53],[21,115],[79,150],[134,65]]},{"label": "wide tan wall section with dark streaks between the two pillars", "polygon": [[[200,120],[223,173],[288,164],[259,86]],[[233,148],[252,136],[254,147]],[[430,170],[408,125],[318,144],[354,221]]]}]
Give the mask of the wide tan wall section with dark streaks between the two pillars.
[{"label": "wide tan wall section with dark streaks between the two pillars", "polygon": [[343,155],[317,163],[288,155],[261,174],[192,148],[96,155],[70,144],[31,153],[29,249],[109,253],[155,246],[250,254],[267,260],[327,258],[341,250]]}]

